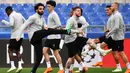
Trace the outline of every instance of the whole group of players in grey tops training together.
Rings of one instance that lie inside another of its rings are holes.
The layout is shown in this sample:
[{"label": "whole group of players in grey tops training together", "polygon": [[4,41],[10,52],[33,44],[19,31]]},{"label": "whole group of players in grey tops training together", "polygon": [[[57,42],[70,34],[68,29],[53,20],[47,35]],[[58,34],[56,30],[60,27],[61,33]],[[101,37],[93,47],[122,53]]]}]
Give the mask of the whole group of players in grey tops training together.
[{"label": "whole group of players in grey tops training together", "polygon": [[[61,27],[58,14],[54,11],[56,2],[47,1],[46,5],[49,12],[47,24],[45,19],[42,17],[45,8],[42,3],[35,5],[34,9],[36,13],[30,16],[27,20],[25,20],[20,13],[15,12],[11,6],[8,6],[5,9],[7,15],[9,16],[9,22],[2,20],[2,23],[12,27],[11,39],[8,47],[11,68],[7,72],[11,72],[16,69],[14,64],[13,50],[15,50],[18,58],[18,69],[16,70],[16,73],[23,69],[21,64],[21,54],[19,51],[23,40],[24,30],[27,30],[28,32],[29,41],[34,46],[36,54],[36,61],[31,70],[31,73],[36,73],[42,56],[45,57],[47,65],[44,73],[49,73],[53,70],[48,55],[48,51],[50,49],[53,50],[53,53],[58,61],[58,73],[73,73],[74,59],[76,59],[79,63],[79,70],[81,73],[88,71],[88,68],[85,66],[81,55],[85,56],[90,49],[96,49],[101,53],[102,56],[105,56],[112,51],[113,57],[117,64],[117,68],[113,70],[113,72],[122,71],[118,55],[116,54],[116,51],[118,51],[121,58],[127,65],[128,69],[126,70],[126,73],[130,72],[130,64],[123,52],[125,27],[122,16],[118,12],[119,3],[115,2],[112,4],[112,6],[106,7],[106,13],[109,16],[109,19],[106,25],[105,36],[95,39],[94,41],[86,37],[85,32],[89,24],[82,16],[83,10],[79,6],[72,8],[70,18],[66,23],[66,28],[63,28]],[[65,35],[61,38],[60,34]],[[42,39],[46,36],[47,39],[44,42],[45,44],[42,45]],[[65,65],[65,71],[62,65],[61,56],[58,51],[63,47],[64,43],[68,48],[68,60]],[[97,45],[97,43],[101,44]],[[86,49],[81,53],[83,47],[86,44],[89,45],[90,49]],[[108,46],[108,50],[104,50],[106,46]],[[94,66],[98,65],[100,64],[97,63]]]}]

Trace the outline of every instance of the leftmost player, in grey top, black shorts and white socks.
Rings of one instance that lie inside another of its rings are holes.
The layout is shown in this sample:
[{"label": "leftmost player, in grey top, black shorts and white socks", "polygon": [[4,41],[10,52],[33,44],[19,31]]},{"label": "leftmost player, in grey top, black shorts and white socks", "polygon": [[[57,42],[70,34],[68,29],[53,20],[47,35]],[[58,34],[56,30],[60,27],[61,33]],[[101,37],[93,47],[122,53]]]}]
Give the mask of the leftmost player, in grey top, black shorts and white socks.
[{"label": "leftmost player, in grey top, black shorts and white socks", "polygon": [[19,33],[18,30],[21,27],[21,25],[25,22],[25,19],[20,13],[15,12],[11,6],[8,6],[5,9],[5,11],[6,11],[6,14],[9,16],[9,22],[2,20],[2,23],[12,28],[11,39],[10,39],[9,47],[8,47],[11,68],[7,72],[11,72],[16,69],[15,64],[14,64],[14,56],[13,56],[13,51],[15,51],[16,56],[18,58],[18,69],[16,70],[16,73],[18,73],[23,69],[22,62],[21,62],[21,54],[19,53],[20,46],[23,41],[23,34],[20,37],[19,41],[16,41],[16,38],[17,38],[17,34]]}]

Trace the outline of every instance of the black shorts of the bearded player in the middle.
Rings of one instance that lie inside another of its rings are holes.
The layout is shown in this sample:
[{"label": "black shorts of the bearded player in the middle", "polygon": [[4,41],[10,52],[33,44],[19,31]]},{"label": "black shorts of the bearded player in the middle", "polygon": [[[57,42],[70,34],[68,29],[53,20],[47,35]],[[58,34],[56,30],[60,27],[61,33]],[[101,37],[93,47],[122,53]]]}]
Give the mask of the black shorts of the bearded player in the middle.
[{"label": "black shorts of the bearded player in the middle", "polygon": [[66,47],[68,48],[68,56],[71,58],[74,55],[81,52],[84,45],[86,45],[87,41],[88,41],[88,38],[77,37],[75,41],[71,43],[67,43]]}]

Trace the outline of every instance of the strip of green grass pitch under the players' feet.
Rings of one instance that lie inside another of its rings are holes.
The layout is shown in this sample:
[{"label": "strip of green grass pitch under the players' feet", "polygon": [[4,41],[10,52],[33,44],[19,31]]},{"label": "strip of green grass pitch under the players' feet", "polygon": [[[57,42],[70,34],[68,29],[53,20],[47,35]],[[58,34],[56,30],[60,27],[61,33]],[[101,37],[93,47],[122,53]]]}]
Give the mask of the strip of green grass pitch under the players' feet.
[{"label": "strip of green grass pitch under the players' feet", "polygon": [[[0,68],[0,73],[7,73],[7,70],[9,68]],[[112,73],[111,71],[113,70],[114,68],[89,68],[88,72],[86,73]],[[43,71],[45,70],[45,68],[39,68],[37,70],[37,73],[43,73]],[[50,72],[50,73],[57,73],[59,70],[59,68],[53,68],[53,71]],[[77,68],[74,68],[74,71],[75,70],[78,70]],[[118,72],[118,73],[124,73],[126,70],[126,68],[123,68],[123,71],[122,72]],[[21,73],[30,73],[31,71],[31,68],[24,68]],[[15,70],[10,72],[10,73],[15,73]],[[76,73],[76,72],[73,72],[73,73]]]}]

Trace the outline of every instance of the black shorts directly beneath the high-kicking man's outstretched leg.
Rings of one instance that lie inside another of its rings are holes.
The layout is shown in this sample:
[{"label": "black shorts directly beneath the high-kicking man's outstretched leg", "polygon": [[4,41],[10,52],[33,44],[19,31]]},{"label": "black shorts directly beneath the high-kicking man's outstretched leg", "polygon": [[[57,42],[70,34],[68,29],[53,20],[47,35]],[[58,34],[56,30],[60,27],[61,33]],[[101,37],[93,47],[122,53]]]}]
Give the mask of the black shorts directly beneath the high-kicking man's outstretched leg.
[{"label": "black shorts directly beneath the high-kicking man's outstretched leg", "polygon": [[58,50],[61,39],[47,39],[44,47],[51,48],[52,50]]}]

